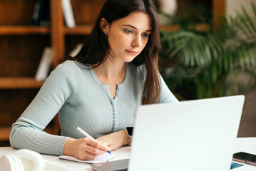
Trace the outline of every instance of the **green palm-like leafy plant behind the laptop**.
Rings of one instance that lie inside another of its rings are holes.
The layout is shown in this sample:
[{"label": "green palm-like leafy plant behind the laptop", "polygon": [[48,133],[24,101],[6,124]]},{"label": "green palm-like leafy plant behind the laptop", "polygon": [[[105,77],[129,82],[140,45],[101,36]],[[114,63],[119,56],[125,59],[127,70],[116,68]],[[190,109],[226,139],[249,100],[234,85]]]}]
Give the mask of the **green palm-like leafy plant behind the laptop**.
[{"label": "green palm-like leafy plant behind the laptop", "polygon": [[[160,66],[170,90],[185,99],[245,94],[256,88],[256,8],[254,16],[242,12],[235,17],[217,17],[205,24],[205,14],[197,20],[159,13],[180,27],[161,31],[163,51]],[[205,11],[203,11],[205,12]],[[185,23],[186,22],[186,23]],[[205,24],[198,31],[197,24]],[[241,77],[250,76],[241,82]],[[182,100],[182,99],[180,99]]]}]

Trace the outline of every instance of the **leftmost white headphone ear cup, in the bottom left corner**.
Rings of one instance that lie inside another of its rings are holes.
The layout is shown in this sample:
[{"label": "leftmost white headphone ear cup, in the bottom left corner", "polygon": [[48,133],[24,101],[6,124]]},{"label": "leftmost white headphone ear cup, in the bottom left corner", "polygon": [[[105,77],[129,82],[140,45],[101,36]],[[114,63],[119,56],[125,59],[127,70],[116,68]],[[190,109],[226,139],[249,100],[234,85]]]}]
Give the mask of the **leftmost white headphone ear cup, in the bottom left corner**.
[{"label": "leftmost white headphone ear cup, in the bottom left corner", "polygon": [[1,171],[24,171],[24,167],[15,155],[2,155],[0,159]]}]

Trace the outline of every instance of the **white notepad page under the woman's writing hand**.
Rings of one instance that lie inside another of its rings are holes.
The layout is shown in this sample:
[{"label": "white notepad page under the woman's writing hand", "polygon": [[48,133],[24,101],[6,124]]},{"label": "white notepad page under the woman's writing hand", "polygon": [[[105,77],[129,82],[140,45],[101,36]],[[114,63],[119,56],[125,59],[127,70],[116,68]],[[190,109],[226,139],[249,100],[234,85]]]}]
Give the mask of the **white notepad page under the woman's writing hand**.
[{"label": "white notepad page under the woman's writing hand", "polygon": [[106,152],[104,155],[99,155],[95,160],[79,160],[76,157],[69,156],[69,155],[61,155],[59,156],[59,160],[68,160],[73,162],[85,162],[85,163],[99,163],[99,162],[108,162],[116,157],[116,154],[112,153],[109,154]]}]

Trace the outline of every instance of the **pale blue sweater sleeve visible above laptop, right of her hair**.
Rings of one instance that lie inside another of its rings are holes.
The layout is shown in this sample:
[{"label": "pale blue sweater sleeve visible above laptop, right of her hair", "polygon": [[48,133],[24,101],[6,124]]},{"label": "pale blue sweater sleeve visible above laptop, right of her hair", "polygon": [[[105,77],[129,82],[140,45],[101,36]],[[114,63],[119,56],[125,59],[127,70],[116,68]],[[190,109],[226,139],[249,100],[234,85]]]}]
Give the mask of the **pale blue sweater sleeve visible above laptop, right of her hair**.
[{"label": "pale blue sweater sleeve visible above laptop, right of her hair", "polygon": [[173,93],[170,92],[170,89],[166,85],[165,81],[163,81],[162,76],[160,76],[160,83],[161,83],[161,95],[160,95],[159,103],[177,103],[178,99],[175,98]]}]

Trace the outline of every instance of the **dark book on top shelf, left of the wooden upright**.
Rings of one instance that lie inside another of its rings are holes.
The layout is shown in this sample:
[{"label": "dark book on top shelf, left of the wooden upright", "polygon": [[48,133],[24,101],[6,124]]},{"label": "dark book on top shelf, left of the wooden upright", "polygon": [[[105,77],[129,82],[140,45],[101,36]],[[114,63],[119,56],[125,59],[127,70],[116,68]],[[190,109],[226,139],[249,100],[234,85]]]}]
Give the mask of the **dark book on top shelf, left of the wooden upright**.
[{"label": "dark book on top shelf, left of the wooden upright", "polygon": [[36,0],[32,17],[33,26],[50,26],[50,0]]}]

